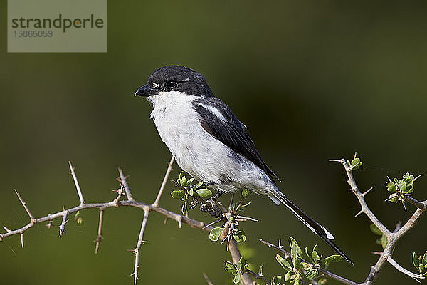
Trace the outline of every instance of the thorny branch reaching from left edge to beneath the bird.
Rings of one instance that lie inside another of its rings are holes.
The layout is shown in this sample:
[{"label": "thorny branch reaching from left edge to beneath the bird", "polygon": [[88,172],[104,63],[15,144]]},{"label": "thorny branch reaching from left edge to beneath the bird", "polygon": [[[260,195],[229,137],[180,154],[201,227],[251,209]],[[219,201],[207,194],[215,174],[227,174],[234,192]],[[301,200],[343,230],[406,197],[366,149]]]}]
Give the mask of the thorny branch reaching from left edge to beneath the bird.
[{"label": "thorny branch reaching from left edge to beneath the bird", "polygon": [[[22,199],[21,195],[19,195],[19,193],[15,190],[16,195],[19,197],[19,200],[21,201],[21,204],[23,205],[24,209],[26,209],[26,212],[27,212],[28,216],[30,217],[31,222],[29,222],[25,226],[21,227],[20,229],[15,229],[15,230],[11,230],[8,227],[3,226],[4,229],[6,230],[6,233],[0,234],[0,241],[2,241],[5,237],[10,237],[10,236],[19,234],[21,236],[21,246],[23,247],[23,234],[24,234],[24,232],[26,232],[27,229],[30,229],[31,227],[35,226],[36,224],[40,224],[42,222],[48,222],[48,227],[51,227],[51,225],[53,224],[53,220],[60,218],[60,217],[62,217],[62,220],[61,220],[60,225],[57,227],[59,228],[59,237],[61,237],[63,235],[63,233],[65,233],[65,224],[68,222],[67,218],[70,214],[76,213],[76,212],[81,211],[83,209],[94,209],[95,208],[95,209],[100,209],[100,220],[99,220],[99,225],[98,225],[97,239],[95,239],[95,242],[96,242],[95,253],[97,253],[97,251],[99,250],[99,247],[100,247],[100,242],[102,240],[102,224],[103,224],[105,209],[117,208],[117,207],[136,207],[136,208],[142,209],[144,211],[144,219],[142,220],[142,226],[141,226],[141,230],[139,232],[139,238],[138,238],[137,246],[135,247],[135,249],[132,249],[132,252],[135,253],[135,269],[134,269],[133,274],[131,274],[131,275],[134,275],[134,284],[136,284],[137,273],[138,273],[138,269],[139,269],[139,252],[140,252],[141,245],[146,243],[143,240],[143,237],[144,237],[145,227],[147,225],[147,220],[149,217],[149,212],[151,212],[151,211],[158,212],[159,214],[164,215],[167,219],[174,219],[178,223],[179,228],[182,227],[183,223],[189,224],[190,227],[202,229],[206,232],[211,232],[211,229],[214,228],[214,227],[211,227],[209,225],[206,225],[204,222],[199,222],[199,221],[196,221],[195,219],[191,219],[189,217],[185,217],[185,216],[182,216],[181,214],[176,214],[175,212],[171,212],[167,209],[159,207],[159,200],[162,197],[162,192],[164,190],[164,187],[166,187],[166,182],[168,180],[169,174],[170,174],[170,172],[172,172],[173,162],[174,162],[174,157],[172,156],[172,159],[168,163],[167,172],[164,175],[164,179],[163,179],[162,185],[159,189],[159,192],[157,194],[157,198],[155,199],[153,204],[138,202],[135,199],[133,199],[132,193],[130,192],[130,187],[129,187],[129,185],[127,185],[127,182],[126,182],[127,177],[123,174],[123,172],[120,168],[119,168],[120,177],[117,180],[120,181],[122,187],[120,187],[119,190],[117,190],[117,192],[118,192],[117,197],[114,200],[112,200],[111,202],[86,203],[85,200],[83,199],[83,194],[81,192],[80,185],[78,185],[78,180],[77,180],[77,177],[75,175],[74,168],[71,165],[71,162],[69,162],[71,175],[73,176],[73,180],[75,182],[75,187],[76,187],[76,190],[78,192],[80,204],[77,207],[73,207],[70,209],[65,209],[65,207],[63,207],[62,211],[56,212],[55,214],[48,214],[45,217],[35,218],[33,216],[33,214],[31,213],[30,209],[28,208],[28,205],[26,204],[26,202]],[[123,193],[124,190],[126,193],[127,200],[121,200],[122,195],[124,194]],[[235,261],[236,263],[241,259],[241,254],[238,251],[237,244],[234,240],[232,242],[230,242],[230,253],[231,253],[231,257],[232,257],[233,261]],[[241,276],[241,280],[242,280],[242,284],[244,284],[244,285],[253,284],[251,276],[249,276],[248,273],[243,274]]]}]

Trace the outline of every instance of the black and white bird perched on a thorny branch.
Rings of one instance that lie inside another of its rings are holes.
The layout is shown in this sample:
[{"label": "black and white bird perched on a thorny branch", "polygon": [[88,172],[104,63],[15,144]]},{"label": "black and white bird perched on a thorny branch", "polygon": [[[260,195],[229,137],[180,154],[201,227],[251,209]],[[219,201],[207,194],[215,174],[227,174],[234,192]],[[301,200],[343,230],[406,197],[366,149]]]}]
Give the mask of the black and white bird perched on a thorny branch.
[{"label": "black and white bird perched on a thorny branch", "polygon": [[350,264],[334,236],[295,205],[276,185],[253,140],[231,108],[217,98],[206,77],[194,69],[169,65],[155,70],[135,96],[152,103],[150,114],[160,138],[182,170],[219,193],[251,190],[284,204]]}]

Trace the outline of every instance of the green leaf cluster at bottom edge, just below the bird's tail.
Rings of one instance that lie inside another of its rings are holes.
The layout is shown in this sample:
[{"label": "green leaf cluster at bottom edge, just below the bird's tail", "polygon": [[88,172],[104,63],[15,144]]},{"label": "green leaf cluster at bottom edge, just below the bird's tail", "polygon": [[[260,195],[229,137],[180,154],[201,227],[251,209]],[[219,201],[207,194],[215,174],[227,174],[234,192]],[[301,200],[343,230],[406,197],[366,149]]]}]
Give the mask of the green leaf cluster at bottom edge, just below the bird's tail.
[{"label": "green leaf cluster at bottom edge, just below the bird's tail", "polygon": [[[302,259],[302,250],[298,245],[297,241],[290,237],[290,258],[288,261],[288,257],[283,258],[280,254],[276,255],[276,260],[278,263],[288,271],[285,276],[275,276],[273,278],[273,285],[284,284],[284,282],[290,282],[290,284],[302,285],[302,277],[306,279],[315,279],[319,276],[319,271],[317,270],[317,266],[321,266],[324,269],[327,269],[331,262],[339,262],[344,258],[338,254],[333,254],[330,257],[326,257],[322,259],[322,255],[317,252],[317,244],[313,247],[312,251],[309,253],[307,247],[305,247],[304,252],[308,257],[308,263],[305,259]],[[322,280],[324,281],[324,280]]]}]

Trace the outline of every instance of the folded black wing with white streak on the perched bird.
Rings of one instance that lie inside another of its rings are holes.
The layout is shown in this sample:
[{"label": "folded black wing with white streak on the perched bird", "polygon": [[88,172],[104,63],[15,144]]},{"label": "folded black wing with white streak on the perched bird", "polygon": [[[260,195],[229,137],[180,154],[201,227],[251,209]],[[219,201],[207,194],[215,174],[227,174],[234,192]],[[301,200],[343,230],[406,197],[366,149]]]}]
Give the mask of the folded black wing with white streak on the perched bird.
[{"label": "folded black wing with white streak on the perched bird", "polygon": [[275,177],[280,181],[264,162],[263,157],[256,150],[255,144],[246,134],[246,125],[236,118],[226,103],[216,97],[209,97],[196,99],[193,101],[193,105],[200,115],[201,126],[206,132],[260,167],[272,180]]}]

